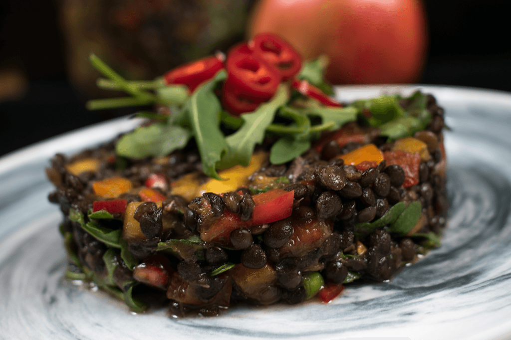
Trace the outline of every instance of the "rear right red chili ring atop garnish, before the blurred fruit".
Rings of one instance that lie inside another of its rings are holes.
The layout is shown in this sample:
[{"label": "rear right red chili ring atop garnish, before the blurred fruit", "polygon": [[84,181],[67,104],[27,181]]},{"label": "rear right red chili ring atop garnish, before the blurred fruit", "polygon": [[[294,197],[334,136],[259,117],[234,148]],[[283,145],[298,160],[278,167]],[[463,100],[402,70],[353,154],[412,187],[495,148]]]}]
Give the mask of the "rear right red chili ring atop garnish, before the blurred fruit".
[{"label": "rear right red chili ring atop garnish, before the blurred fruit", "polygon": [[286,40],[273,34],[259,34],[249,43],[258,58],[278,69],[283,81],[294,77],[301,69],[301,57]]}]

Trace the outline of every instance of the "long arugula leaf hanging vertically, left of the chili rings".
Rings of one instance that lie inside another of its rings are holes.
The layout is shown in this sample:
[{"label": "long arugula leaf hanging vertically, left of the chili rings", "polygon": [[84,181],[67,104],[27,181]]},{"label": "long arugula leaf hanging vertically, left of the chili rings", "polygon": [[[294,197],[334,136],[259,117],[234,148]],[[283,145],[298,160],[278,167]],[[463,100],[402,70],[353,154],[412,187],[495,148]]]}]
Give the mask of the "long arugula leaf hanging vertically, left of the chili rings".
[{"label": "long arugula leaf hanging vertically, left of the chili rings", "polygon": [[217,174],[216,164],[228,150],[228,145],[219,127],[222,106],[214,89],[226,77],[225,71],[218,72],[213,80],[195,90],[183,107],[192,126],[204,174],[217,180],[222,178]]}]

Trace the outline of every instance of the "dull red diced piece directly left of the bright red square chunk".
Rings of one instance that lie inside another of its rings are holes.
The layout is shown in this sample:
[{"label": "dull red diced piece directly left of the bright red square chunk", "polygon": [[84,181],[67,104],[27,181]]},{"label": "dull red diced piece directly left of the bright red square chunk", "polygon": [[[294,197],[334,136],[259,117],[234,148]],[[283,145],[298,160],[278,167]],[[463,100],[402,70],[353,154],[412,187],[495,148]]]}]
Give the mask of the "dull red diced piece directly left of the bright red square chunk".
[{"label": "dull red diced piece directly left of the bright red square chunk", "polygon": [[241,221],[238,214],[224,210],[222,216],[204,230],[199,230],[200,238],[206,242],[219,242],[222,245],[229,245],[230,232],[239,228],[250,228],[251,221]]}]

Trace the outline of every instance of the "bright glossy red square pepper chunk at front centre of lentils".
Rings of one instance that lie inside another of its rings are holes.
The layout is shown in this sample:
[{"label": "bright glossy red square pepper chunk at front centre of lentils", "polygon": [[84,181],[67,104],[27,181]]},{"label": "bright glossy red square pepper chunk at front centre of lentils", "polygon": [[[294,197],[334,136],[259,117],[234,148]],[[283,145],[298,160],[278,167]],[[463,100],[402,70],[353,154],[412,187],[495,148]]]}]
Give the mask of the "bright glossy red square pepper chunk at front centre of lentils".
[{"label": "bright glossy red square pepper chunk at front centre of lentils", "polygon": [[255,203],[252,212],[254,226],[272,223],[291,216],[293,212],[294,190],[269,190],[252,196]]}]

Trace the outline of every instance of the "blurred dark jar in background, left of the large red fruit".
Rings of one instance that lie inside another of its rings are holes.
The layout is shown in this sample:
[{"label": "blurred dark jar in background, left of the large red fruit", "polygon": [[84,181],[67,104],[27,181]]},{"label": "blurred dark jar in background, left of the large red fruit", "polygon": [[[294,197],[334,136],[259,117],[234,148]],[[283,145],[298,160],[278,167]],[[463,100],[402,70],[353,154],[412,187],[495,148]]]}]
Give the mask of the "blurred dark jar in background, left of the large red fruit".
[{"label": "blurred dark jar in background, left of the large red fruit", "polygon": [[131,80],[149,80],[245,38],[253,0],[59,0],[71,81],[104,96],[94,52]]}]

